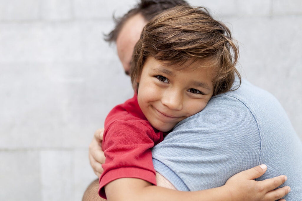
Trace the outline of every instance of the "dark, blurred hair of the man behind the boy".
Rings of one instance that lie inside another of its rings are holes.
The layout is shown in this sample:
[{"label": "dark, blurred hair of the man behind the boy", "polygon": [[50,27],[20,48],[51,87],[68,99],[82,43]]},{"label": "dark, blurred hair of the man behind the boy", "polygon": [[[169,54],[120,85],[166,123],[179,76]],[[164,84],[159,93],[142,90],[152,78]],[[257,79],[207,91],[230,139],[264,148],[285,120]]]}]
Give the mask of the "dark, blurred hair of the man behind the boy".
[{"label": "dark, blurred hair of the man behind the boy", "polygon": [[142,14],[144,19],[149,21],[156,16],[156,14],[177,5],[188,5],[188,3],[183,0],[141,0],[134,8],[124,14],[123,17],[115,18],[113,16],[115,28],[108,35],[105,35],[105,41],[116,42],[120,30],[130,17],[136,14]]}]

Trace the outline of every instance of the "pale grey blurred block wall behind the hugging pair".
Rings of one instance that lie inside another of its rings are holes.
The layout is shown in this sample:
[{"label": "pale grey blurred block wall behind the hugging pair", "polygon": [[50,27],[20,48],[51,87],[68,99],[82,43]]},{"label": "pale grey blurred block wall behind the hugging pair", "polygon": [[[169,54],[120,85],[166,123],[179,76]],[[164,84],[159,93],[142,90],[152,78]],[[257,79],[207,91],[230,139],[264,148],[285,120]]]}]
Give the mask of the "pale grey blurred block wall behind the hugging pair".
[{"label": "pale grey blurred block wall behind the hugging pair", "polygon": [[[132,97],[103,40],[136,0],[0,0],[0,200],[81,200],[96,178],[88,145]],[[239,71],[302,133],[302,1],[189,0],[239,41]]]}]

